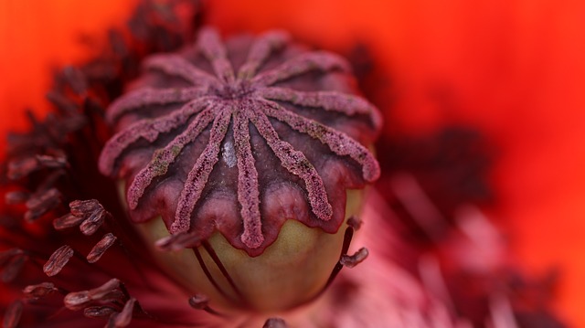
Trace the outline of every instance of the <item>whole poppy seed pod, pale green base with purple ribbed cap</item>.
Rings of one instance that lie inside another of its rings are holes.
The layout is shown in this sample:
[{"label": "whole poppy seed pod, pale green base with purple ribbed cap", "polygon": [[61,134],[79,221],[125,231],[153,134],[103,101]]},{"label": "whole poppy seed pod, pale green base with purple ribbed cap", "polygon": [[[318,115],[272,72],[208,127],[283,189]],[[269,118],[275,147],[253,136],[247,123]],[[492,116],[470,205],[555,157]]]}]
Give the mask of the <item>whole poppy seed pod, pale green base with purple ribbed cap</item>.
[{"label": "whole poppy seed pod, pale green base with purple ribbed cap", "polygon": [[348,66],[281,31],[224,43],[207,27],[147,58],[107,111],[101,173],[122,179],[163,266],[214,306],[289,309],[333,275],[379,175],[380,114]]}]

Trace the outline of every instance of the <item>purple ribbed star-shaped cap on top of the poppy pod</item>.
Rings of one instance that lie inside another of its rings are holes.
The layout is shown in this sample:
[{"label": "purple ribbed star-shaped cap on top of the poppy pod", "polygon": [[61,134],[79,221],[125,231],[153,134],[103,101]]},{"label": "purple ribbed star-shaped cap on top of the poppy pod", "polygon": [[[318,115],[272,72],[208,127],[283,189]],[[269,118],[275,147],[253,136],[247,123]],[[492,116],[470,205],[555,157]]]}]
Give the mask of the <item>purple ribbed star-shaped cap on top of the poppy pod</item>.
[{"label": "purple ribbed star-shaped cap on top of the poppy pod", "polygon": [[282,31],[224,43],[207,27],[144,69],[108,111],[100,170],[126,180],[135,222],[160,215],[186,247],[218,231],[257,256],[287,219],[334,233],[346,189],[378,178],[381,116],[343,58]]}]

